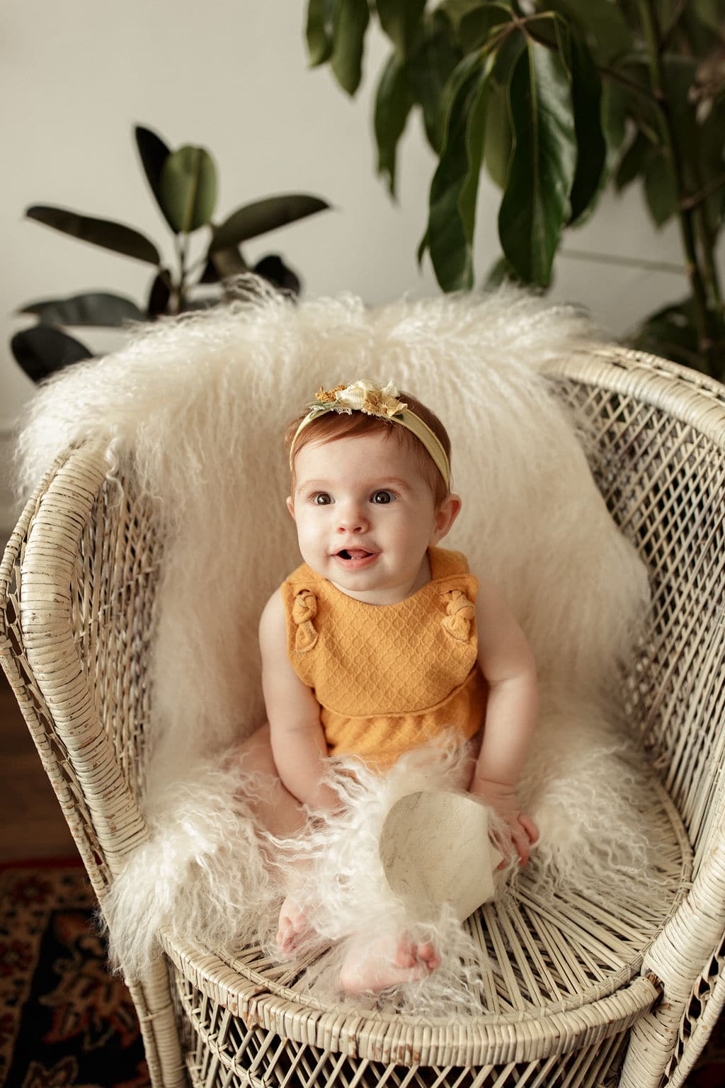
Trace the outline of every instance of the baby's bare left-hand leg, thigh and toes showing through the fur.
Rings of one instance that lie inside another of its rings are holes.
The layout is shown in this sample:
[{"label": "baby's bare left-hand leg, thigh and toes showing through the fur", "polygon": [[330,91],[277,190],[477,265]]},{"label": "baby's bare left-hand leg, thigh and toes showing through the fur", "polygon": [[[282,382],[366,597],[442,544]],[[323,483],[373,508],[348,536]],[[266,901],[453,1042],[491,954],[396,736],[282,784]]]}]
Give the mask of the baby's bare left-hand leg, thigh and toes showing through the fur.
[{"label": "baby's bare left-hand leg, thigh and toes showing through the fur", "polygon": [[[302,806],[296,796],[287,790],[277,774],[270,727],[262,726],[255,733],[237,749],[235,759],[239,762],[243,774],[263,775],[265,789],[260,790],[254,798],[249,798],[250,805],[261,824],[267,831],[280,839],[297,834],[305,824]],[[300,941],[310,935],[312,927],[295,901],[293,894],[288,894],[279,912],[277,929],[277,948],[284,955],[292,955]]]}]

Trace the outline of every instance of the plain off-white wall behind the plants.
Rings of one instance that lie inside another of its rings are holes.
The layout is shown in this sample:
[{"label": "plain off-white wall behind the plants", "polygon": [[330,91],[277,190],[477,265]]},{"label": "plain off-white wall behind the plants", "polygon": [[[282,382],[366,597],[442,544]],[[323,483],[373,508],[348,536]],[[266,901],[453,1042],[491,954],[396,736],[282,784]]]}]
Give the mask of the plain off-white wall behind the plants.
[{"label": "plain off-white wall behind the plants", "polygon": [[[351,101],[327,70],[309,71],[303,0],[23,0],[0,15],[0,466],[8,431],[33,385],[8,342],[32,299],[107,288],[141,299],[150,269],[23,220],[30,203],[58,203],[136,225],[168,248],[167,231],[136,161],[132,126],[172,146],[202,144],[221,178],[217,215],[274,193],[325,197],[335,211],[285,227],[249,247],[278,248],[310,294],[351,290],[368,302],[437,292],[415,250],[425,225],[433,159],[418,124],[405,134],[400,202],[374,174],[375,73],[387,55],[376,32],[362,91]],[[482,190],[477,268],[498,256],[498,195]],[[678,260],[674,227],[655,234],[638,194],[608,197],[570,247]],[[672,273],[562,257],[553,295],[588,306],[613,334],[685,294]],[[80,337],[82,339],[84,336]],[[96,339],[101,349],[107,339]],[[7,528],[0,467],[0,529]],[[3,509],[4,507],[4,509]]]}]

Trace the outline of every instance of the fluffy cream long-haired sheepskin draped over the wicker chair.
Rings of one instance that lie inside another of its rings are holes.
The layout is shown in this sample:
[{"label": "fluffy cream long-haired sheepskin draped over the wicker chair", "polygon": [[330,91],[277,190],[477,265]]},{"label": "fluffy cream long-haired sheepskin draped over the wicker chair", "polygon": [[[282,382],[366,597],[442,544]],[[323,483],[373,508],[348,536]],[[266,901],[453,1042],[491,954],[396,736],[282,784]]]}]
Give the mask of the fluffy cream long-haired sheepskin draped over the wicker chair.
[{"label": "fluffy cream long-haired sheepskin draped over the wicker chair", "polygon": [[[253,302],[140,329],[39,392],[20,443],[24,489],[68,445],[100,442],[109,475],[132,473],[153,496],[165,539],[150,663],[151,838],[104,903],[128,976],[143,972],[162,925],[213,947],[264,940],[276,923],[283,862],[270,863],[249,807],[268,783],[245,778],[227,754],[264,720],[258,619],[299,562],[282,435],[321,384],[392,380],[449,430],[463,511],[445,546],[498,583],[538,664],[541,719],[522,794],[541,831],[541,879],[629,889],[641,879],[649,778],[617,693],[647,578],[541,375],[591,335],[578,311],[512,289],[371,310],[352,297],[292,305],[258,288]],[[375,869],[377,834],[414,788],[404,768],[385,781],[362,776],[347,823],[299,848],[316,866],[321,940],[359,938],[363,913],[401,924]],[[291,849],[279,844],[279,857]],[[330,874],[342,870],[340,892]],[[453,963],[461,927],[424,920]],[[441,969],[435,985],[453,975]]]}]

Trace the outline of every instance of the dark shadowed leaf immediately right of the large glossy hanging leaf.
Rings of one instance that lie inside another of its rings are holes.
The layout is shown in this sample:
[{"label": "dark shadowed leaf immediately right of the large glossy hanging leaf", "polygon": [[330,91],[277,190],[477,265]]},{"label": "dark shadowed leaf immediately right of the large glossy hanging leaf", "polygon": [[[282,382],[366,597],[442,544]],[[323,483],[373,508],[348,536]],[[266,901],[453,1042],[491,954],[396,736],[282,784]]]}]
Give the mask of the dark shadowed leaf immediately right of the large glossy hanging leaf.
[{"label": "dark shadowed leaf immediately right of the large glossy hanging leaf", "polygon": [[601,81],[586,44],[571,36],[572,102],[576,134],[576,171],[570,195],[571,221],[589,212],[600,191],[607,162],[607,143],[601,124]]}]

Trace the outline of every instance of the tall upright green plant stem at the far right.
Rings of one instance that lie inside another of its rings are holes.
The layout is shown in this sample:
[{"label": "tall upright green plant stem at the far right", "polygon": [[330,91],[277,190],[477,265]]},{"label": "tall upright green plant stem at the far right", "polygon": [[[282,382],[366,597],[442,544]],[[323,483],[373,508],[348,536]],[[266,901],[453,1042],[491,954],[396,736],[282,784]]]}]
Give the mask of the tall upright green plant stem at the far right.
[{"label": "tall upright green plant stem at the far right", "polygon": [[698,260],[692,209],[686,207],[687,194],[685,193],[683,176],[682,149],[679,147],[679,140],[677,138],[677,133],[675,131],[666,96],[664,65],[662,63],[662,55],[660,52],[660,33],[657,11],[654,10],[654,3],[652,0],[637,0],[637,3],[649,54],[652,89],[659,104],[662,139],[668,152],[675,190],[679,201],[679,231],[683,239],[683,247],[685,249],[686,269],[692,292],[695,312],[697,314],[700,350],[703,354],[703,361],[705,361],[709,372],[712,373],[716,369],[713,363],[715,361],[715,344],[720,330],[713,327],[712,318],[714,314],[708,307],[708,292],[705,290],[703,270],[700,268]]}]

